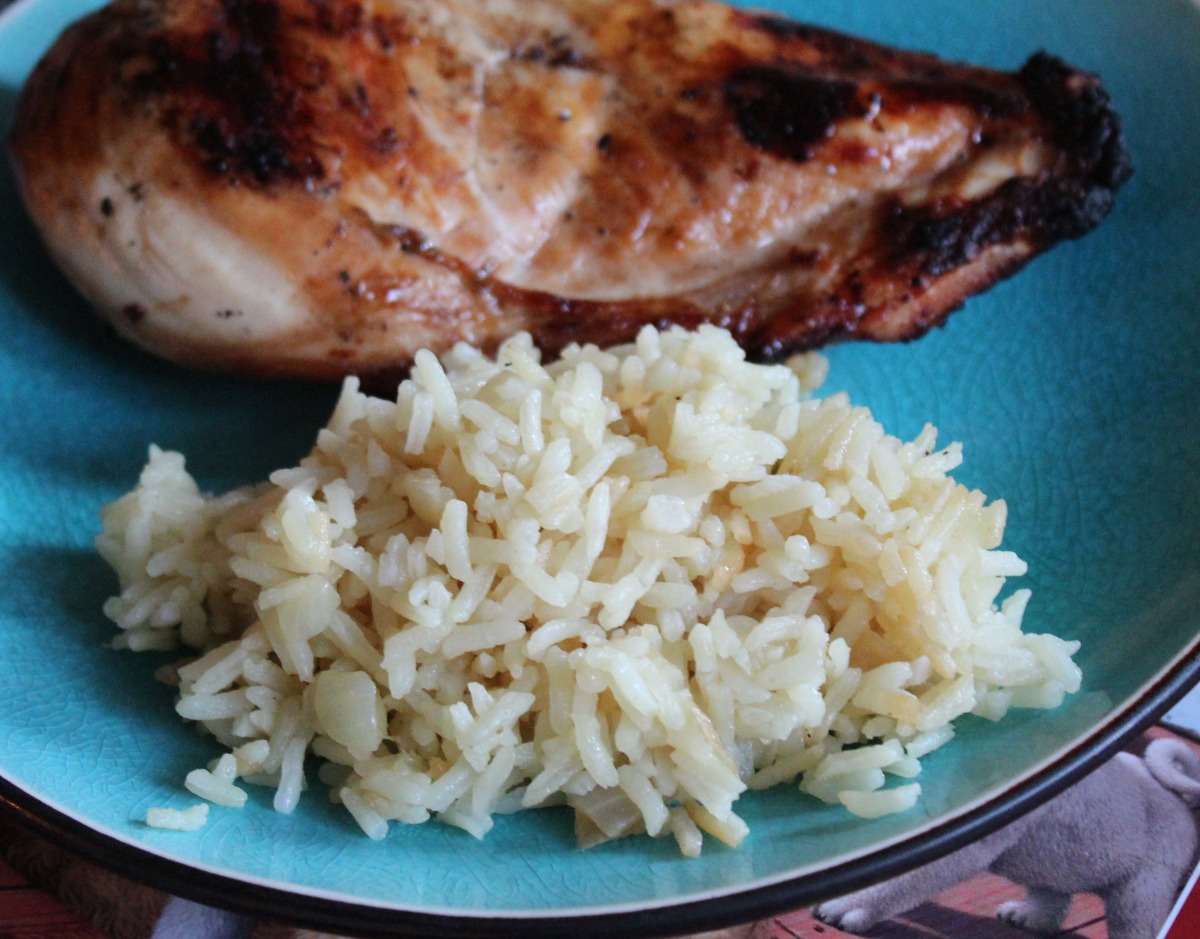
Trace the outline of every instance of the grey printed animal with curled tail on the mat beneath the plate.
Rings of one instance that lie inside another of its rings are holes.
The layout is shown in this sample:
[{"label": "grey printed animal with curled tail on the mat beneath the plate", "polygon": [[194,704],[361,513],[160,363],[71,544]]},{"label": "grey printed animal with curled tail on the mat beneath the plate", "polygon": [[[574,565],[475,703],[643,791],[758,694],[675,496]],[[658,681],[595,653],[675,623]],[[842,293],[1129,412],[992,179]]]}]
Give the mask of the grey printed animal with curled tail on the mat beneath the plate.
[{"label": "grey printed animal with curled tail on the mat beneath the plate", "polygon": [[905,913],[977,874],[1026,887],[996,911],[1032,933],[1062,926],[1073,893],[1104,901],[1110,939],[1150,939],[1178,896],[1198,847],[1200,756],[1159,738],[1142,758],[1121,753],[1073,788],[966,848],[814,914],[851,933]]}]

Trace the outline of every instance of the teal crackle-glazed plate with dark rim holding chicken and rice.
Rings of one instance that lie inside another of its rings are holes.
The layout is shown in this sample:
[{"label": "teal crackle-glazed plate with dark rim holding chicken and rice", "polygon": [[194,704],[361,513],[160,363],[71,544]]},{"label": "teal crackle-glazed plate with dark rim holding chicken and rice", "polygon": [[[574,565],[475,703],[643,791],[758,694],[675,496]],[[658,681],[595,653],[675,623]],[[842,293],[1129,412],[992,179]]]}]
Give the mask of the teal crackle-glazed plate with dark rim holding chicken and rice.
[{"label": "teal crackle-glazed plate with dark rim holding chicken and rice", "polygon": [[[0,18],[0,127],[24,77],[97,0],[23,0]],[[925,761],[924,799],[860,821],[794,789],[745,796],[751,835],[698,860],[637,838],[581,853],[554,811],[482,842],[442,825],[384,843],[310,793],[254,795],[192,835],[155,831],[215,755],[155,683],[106,647],[113,588],[97,510],[151,442],[211,490],[302,455],[330,389],[197,375],[92,318],[42,253],[0,172],[0,803],[77,851],[214,905],[348,933],[649,935],[767,916],[931,860],[1061,790],[1200,671],[1200,7],[1188,0],[806,0],[810,22],[1019,66],[1045,48],[1099,72],[1135,166],[1111,217],[907,346],[841,346],[832,387],[893,433],[964,442],[964,483],[1009,503],[1033,590],[1026,627],[1082,640],[1084,689],[1052,712],[965,719]],[[4,131],[5,134],[7,131]]]}]

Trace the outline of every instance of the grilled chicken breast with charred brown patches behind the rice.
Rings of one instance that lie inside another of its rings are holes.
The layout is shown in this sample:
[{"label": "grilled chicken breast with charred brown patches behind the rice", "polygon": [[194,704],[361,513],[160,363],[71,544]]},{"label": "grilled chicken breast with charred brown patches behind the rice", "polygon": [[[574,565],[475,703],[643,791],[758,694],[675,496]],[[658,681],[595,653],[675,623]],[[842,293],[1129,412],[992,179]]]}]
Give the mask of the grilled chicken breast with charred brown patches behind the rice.
[{"label": "grilled chicken breast with charred brown patches behind the rice", "polygon": [[518,330],[911,339],[1129,172],[1104,90],[1054,58],[707,0],[116,0],[37,66],[12,156],[121,334],[329,378]]}]

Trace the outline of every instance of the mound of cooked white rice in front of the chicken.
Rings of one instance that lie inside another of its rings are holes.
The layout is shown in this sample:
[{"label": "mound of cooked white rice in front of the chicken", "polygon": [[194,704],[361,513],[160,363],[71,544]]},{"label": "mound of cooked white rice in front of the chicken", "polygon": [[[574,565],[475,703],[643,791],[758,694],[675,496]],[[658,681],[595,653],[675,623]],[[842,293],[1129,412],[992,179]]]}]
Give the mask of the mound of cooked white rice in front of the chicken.
[{"label": "mound of cooked white rice in front of the chicken", "polygon": [[151,448],[97,545],[116,644],[202,653],[176,710],[228,753],[187,788],[289,812],[312,753],[372,838],[565,803],[584,845],[685,855],[745,837],[746,789],[913,806],[952,722],[1057,705],[1078,644],[1021,632],[1026,591],[997,605],[1025,564],[960,448],[810,399],[823,369],[715,328],[551,365],[521,335],[420,353],[396,401],[348,381],[257,488],[206,497]]}]

